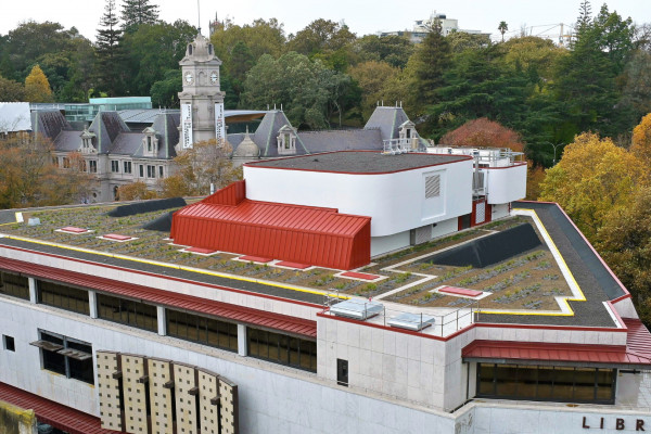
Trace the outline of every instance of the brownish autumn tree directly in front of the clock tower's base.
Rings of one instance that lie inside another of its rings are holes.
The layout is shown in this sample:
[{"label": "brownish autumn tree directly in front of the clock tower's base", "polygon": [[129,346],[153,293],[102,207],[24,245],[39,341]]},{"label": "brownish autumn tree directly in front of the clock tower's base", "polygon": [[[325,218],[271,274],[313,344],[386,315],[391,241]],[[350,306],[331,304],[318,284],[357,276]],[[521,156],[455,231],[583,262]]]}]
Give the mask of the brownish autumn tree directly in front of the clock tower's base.
[{"label": "brownish autumn tree directly in front of the clock tower's base", "polygon": [[219,190],[242,179],[242,168],[233,167],[229,143],[207,140],[194,143],[174,158],[174,175],[162,182],[162,195],[207,195],[210,184]]}]

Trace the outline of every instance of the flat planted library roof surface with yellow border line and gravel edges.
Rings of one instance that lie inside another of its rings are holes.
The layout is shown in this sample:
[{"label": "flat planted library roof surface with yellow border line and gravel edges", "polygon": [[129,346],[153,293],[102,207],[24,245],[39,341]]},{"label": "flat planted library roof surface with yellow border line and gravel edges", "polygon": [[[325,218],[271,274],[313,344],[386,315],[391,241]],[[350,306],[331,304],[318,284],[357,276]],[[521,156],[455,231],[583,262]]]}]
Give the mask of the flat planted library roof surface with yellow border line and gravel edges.
[{"label": "flat planted library roof surface with yellow border line and gravel edges", "polygon": [[[529,206],[531,205],[531,206]],[[520,204],[534,208],[537,204]],[[473,229],[432,240],[427,243],[373,258],[373,264],[360,271],[381,276],[375,282],[339,277],[339,270],[310,267],[291,269],[270,264],[235,260],[241,253],[218,252],[201,255],[184,252],[183,246],[171,244],[167,233],[142,229],[161,215],[178,208],[157,209],[124,217],[108,217],[115,208],[108,206],[74,206],[24,210],[24,224],[0,226],[0,245],[29,248],[66,257],[110,264],[163,276],[206,282],[244,291],[321,304],[324,294],[337,291],[342,295],[382,298],[382,302],[406,304],[410,308],[458,309],[473,302],[478,307],[481,322],[532,323],[554,326],[614,327],[603,302],[624,294],[609,286],[613,279],[603,276],[592,264],[586,246],[573,242],[559,227],[556,205],[536,208],[536,214],[552,238],[586,301],[569,301],[572,314],[559,316],[561,308],[556,297],[575,298],[549,246],[542,242],[539,230],[529,217],[515,216],[493,221]],[[11,212],[13,213],[13,210]],[[9,212],[0,213],[7,217]],[[30,217],[40,219],[39,226],[28,226]],[[7,221],[8,218],[3,218]],[[437,252],[485,242],[496,233],[507,232],[525,225],[541,243],[525,251],[514,252],[497,264],[469,267],[463,264],[436,264]],[[90,229],[74,234],[58,231],[64,227]],[[135,240],[115,242],[100,239],[106,233],[133,237]],[[572,237],[572,234],[570,234]],[[589,246],[588,246],[589,247]],[[578,252],[577,250],[582,250]],[[588,255],[588,256],[586,256]],[[133,259],[138,260],[133,260]],[[145,261],[142,261],[145,259]],[[598,259],[598,257],[597,257]],[[170,268],[158,264],[174,264]],[[599,265],[602,266],[600,263]],[[197,272],[197,271],[201,272]],[[237,277],[237,279],[234,279]],[[484,297],[473,301],[438,293],[439,286],[458,286],[482,291]],[[295,290],[295,289],[297,290]],[[305,291],[307,290],[307,291]],[[394,305],[396,306],[396,305]],[[399,308],[399,307],[397,307]],[[518,311],[521,315],[511,315]],[[526,315],[526,312],[536,315]],[[522,315],[525,314],[525,315]],[[541,315],[542,314],[542,315]]]}]

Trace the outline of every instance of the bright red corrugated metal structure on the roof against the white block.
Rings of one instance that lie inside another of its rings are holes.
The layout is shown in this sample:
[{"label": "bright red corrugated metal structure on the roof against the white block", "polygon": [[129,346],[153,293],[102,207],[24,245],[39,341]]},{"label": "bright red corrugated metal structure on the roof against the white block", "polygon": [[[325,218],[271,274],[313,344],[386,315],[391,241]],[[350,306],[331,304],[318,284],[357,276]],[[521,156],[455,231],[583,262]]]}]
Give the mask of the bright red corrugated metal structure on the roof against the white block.
[{"label": "bright red corrugated metal structure on the roof against the white block", "polygon": [[370,263],[370,217],[251,201],[241,195],[244,186],[231,184],[177,210],[169,237],[180,245],[334,269]]}]

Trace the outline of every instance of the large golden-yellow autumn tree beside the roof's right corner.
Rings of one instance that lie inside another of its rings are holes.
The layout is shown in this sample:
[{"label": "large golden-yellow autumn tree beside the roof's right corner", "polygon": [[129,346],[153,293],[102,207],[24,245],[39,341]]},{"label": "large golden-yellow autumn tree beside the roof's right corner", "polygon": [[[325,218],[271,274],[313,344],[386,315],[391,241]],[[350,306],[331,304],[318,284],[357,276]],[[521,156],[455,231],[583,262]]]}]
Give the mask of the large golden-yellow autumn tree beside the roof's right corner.
[{"label": "large golden-yellow autumn tree beside the roof's right corner", "polygon": [[539,200],[558,202],[590,240],[609,215],[626,208],[648,184],[648,169],[609,138],[585,132],[547,170]]}]

